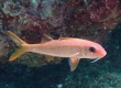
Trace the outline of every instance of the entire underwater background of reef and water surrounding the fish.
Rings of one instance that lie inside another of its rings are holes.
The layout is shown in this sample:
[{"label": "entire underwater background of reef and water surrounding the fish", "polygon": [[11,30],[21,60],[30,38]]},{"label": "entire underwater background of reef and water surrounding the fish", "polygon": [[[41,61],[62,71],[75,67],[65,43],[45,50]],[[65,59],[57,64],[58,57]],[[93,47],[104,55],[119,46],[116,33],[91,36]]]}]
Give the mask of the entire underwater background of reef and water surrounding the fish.
[{"label": "entire underwater background of reef and water surrounding the fish", "polygon": [[[120,0],[0,0],[0,88],[121,88],[120,21]],[[107,56],[80,59],[74,72],[68,58],[47,63],[35,53],[10,63],[18,46],[7,31],[30,44],[41,43],[44,33],[95,41]]]}]

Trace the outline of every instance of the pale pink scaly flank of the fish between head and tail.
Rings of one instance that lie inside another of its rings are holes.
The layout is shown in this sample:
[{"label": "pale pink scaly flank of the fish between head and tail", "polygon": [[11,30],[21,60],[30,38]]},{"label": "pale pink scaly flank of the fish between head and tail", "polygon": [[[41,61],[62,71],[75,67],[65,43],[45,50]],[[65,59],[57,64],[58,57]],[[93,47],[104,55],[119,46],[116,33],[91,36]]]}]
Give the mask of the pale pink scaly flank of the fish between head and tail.
[{"label": "pale pink scaly flank of the fish between head and tail", "polygon": [[30,48],[30,52],[36,52],[41,54],[47,54],[47,55],[59,56],[59,57],[72,57],[73,55],[80,52],[81,50],[78,43],[75,43],[75,44],[70,43],[72,41],[74,40],[70,40],[69,42],[67,40],[51,41],[48,43],[42,44],[38,47],[36,47],[36,44],[35,44],[30,46],[34,48],[34,50]]}]

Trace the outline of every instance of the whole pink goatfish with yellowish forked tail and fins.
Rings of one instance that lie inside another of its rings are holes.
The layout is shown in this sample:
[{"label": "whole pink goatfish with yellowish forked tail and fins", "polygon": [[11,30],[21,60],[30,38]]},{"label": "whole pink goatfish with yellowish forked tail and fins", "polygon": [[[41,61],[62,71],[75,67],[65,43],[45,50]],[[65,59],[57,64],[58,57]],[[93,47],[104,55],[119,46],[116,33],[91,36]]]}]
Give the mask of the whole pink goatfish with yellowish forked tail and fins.
[{"label": "whole pink goatfish with yellowish forked tail and fins", "polygon": [[7,32],[12,41],[19,46],[15,52],[10,56],[9,62],[16,59],[19,56],[26,52],[34,52],[44,54],[47,62],[56,57],[69,57],[68,63],[70,72],[75,70],[80,58],[102,58],[107,55],[105,48],[95,42],[75,38],[75,37],[61,37],[53,40],[51,36],[44,34],[42,43],[28,44],[11,31]]}]

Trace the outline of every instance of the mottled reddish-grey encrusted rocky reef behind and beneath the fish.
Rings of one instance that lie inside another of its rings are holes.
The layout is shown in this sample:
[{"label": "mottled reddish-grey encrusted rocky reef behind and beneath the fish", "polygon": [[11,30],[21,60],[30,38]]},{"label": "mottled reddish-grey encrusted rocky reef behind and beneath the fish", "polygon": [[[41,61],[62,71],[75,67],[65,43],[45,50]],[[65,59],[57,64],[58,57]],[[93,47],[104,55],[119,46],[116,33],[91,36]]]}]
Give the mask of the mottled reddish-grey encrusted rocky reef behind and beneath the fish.
[{"label": "mottled reddish-grey encrusted rocky reef behind and beneath the fish", "polygon": [[[6,34],[8,30],[30,44],[41,43],[44,33],[53,38],[70,36],[101,44],[120,23],[120,0],[0,0],[0,57],[8,55],[2,59],[8,62],[18,47]],[[42,55],[32,53],[13,63],[28,66],[50,64],[43,58]],[[61,61],[55,58],[51,63]]]}]

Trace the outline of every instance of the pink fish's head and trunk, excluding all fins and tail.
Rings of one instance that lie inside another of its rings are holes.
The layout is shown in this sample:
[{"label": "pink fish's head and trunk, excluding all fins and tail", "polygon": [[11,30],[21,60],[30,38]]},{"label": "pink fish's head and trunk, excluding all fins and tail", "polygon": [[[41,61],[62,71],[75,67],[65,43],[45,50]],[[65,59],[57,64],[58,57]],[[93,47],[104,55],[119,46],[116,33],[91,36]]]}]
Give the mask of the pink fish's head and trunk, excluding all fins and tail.
[{"label": "pink fish's head and trunk, excluding all fins and tail", "polygon": [[52,40],[30,47],[30,52],[58,57],[98,58],[107,54],[101,45],[80,38]]}]

